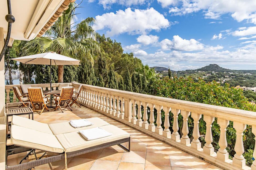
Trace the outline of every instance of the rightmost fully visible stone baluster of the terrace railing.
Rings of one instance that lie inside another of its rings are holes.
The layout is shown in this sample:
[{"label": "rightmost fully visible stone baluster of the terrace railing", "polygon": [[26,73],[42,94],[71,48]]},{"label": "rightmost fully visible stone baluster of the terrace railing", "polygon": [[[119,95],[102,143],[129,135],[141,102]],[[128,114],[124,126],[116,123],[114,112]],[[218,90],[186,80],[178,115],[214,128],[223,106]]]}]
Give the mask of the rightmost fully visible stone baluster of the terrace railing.
[{"label": "rightmost fully visible stone baluster of the terrace railing", "polygon": [[243,156],[244,153],[244,144],[243,144],[243,131],[246,128],[246,124],[233,122],[233,128],[236,129],[236,144],[234,150],[236,154],[233,157],[233,165],[243,168],[245,166],[245,159]]}]

